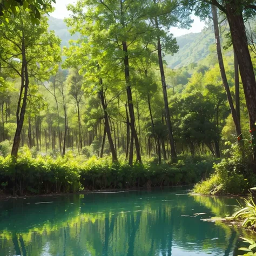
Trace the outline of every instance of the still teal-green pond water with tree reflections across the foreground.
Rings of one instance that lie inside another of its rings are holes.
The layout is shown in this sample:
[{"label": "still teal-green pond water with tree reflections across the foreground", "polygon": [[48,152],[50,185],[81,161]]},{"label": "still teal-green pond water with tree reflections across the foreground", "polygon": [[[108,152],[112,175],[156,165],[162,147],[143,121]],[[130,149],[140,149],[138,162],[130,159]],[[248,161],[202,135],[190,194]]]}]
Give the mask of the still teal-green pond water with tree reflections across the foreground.
[{"label": "still teal-green pond water with tree reflections across the foreground", "polygon": [[3,200],[0,256],[238,255],[241,231],[201,220],[235,204],[184,187]]}]

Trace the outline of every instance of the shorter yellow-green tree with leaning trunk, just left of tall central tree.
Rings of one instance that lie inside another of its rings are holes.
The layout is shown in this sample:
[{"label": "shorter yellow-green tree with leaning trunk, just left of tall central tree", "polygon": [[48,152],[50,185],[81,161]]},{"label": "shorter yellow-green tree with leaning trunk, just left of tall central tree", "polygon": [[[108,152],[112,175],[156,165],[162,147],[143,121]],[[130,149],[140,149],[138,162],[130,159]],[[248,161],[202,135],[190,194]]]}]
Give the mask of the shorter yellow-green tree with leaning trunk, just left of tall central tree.
[{"label": "shorter yellow-green tree with leaning trunk, just left of tall central tree", "polygon": [[[98,50],[96,45],[94,46],[94,49],[92,49],[91,44],[93,44],[93,41],[91,41],[91,39],[87,39],[85,42],[83,41],[82,37],[78,40],[78,42],[76,42],[76,44],[72,44],[70,46],[70,49],[65,49],[68,58],[66,59],[64,65],[75,66],[76,69],[80,69],[80,72],[86,71],[84,73],[85,80],[83,92],[86,91],[87,93],[90,93],[90,95],[93,95],[93,92],[95,91],[97,92],[100,104],[102,105],[102,112],[104,118],[104,134],[100,157],[103,156],[105,139],[107,134],[107,139],[109,140],[110,150],[112,154],[112,161],[114,162],[117,161],[117,153],[116,149],[114,148],[111,135],[108,113],[109,111],[107,110],[107,107],[109,106],[109,103],[111,103],[116,97],[108,100],[106,95],[107,92],[110,91],[110,88],[114,88],[114,86],[116,85],[116,80],[113,74],[113,70],[110,68],[109,65],[106,65],[106,52]],[[83,54],[84,52],[86,52],[86,55]],[[79,66],[78,63],[81,63],[81,65]],[[111,63],[109,64],[111,65]]]}]

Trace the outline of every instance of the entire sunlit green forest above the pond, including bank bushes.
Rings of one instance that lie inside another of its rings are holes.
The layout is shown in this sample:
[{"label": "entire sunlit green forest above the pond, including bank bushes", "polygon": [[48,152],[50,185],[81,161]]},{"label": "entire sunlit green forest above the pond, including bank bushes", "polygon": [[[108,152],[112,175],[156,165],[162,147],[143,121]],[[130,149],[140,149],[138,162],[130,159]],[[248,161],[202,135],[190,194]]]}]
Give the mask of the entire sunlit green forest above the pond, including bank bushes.
[{"label": "entire sunlit green forest above the pond, including bank bushes", "polygon": [[256,184],[256,1],[53,2],[0,2],[0,193]]}]

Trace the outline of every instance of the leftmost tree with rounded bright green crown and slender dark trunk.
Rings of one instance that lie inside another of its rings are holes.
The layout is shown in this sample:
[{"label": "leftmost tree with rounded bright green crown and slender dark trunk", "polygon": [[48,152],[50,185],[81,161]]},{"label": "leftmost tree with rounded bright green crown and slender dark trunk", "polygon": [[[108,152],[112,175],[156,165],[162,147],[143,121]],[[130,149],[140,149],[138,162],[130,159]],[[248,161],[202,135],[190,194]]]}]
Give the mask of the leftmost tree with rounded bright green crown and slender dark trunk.
[{"label": "leftmost tree with rounded bright green crown and slender dark trunk", "polygon": [[[10,69],[21,78],[18,106],[16,112],[17,129],[12,146],[12,156],[17,157],[21,131],[26,111],[29,79],[46,80],[55,71],[60,60],[60,40],[53,32],[48,32],[46,17],[41,25],[31,23],[29,13],[20,9],[8,27],[0,27],[2,67]],[[51,58],[49,58],[51,56]]]}]

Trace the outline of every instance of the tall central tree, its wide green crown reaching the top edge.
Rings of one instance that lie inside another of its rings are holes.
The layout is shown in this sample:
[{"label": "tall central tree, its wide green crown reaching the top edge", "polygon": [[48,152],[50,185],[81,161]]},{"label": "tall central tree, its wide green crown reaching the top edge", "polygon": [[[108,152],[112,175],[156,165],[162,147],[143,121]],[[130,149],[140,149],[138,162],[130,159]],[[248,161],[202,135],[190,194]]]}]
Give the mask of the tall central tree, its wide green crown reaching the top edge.
[{"label": "tall central tree, its wide green crown reaching the top edge", "polygon": [[[133,143],[136,147],[137,161],[141,162],[138,134],[135,127],[135,114],[133,107],[130,57],[139,55],[133,45],[148,31],[148,25],[141,19],[146,1],[78,1],[76,6],[69,6],[73,18],[68,24],[73,31],[82,32],[83,36],[93,39],[93,46],[104,51],[112,60],[112,66],[119,66],[123,70],[126,86],[127,105],[129,110],[129,125],[131,127],[130,157],[133,162]],[[84,13],[84,7],[86,12]],[[100,17],[100,18],[99,18]],[[85,30],[86,28],[86,30]],[[106,62],[108,64],[109,62]],[[102,77],[104,80],[104,77]]]}]

